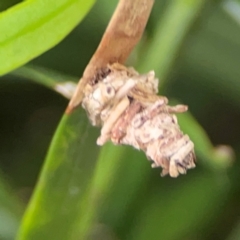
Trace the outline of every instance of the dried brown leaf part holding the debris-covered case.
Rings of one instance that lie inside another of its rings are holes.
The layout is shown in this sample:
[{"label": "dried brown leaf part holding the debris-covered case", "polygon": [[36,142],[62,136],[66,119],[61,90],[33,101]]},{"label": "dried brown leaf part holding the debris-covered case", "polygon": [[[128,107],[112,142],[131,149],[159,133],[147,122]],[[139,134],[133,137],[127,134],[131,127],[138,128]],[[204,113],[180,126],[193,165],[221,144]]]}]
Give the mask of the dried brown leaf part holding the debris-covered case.
[{"label": "dried brown leaf part holding the debris-covered case", "polygon": [[102,40],[78,83],[66,113],[70,113],[81,103],[84,87],[95,77],[99,69],[114,62],[125,62],[142,36],[153,3],[154,0],[119,1]]}]

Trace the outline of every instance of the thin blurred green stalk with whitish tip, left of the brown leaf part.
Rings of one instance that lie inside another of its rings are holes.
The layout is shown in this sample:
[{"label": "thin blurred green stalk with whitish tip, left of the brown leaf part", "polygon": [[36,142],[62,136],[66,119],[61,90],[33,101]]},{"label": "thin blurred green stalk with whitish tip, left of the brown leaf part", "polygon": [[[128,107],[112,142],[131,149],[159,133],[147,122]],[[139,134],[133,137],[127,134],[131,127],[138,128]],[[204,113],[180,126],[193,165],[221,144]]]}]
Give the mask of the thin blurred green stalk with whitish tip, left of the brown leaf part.
[{"label": "thin blurred green stalk with whitish tip, left of the brown leaf part", "polygon": [[67,99],[72,97],[76,89],[77,78],[36,66],[23,66],[11,72],[11,75],[39,83],[60,93]]}]

